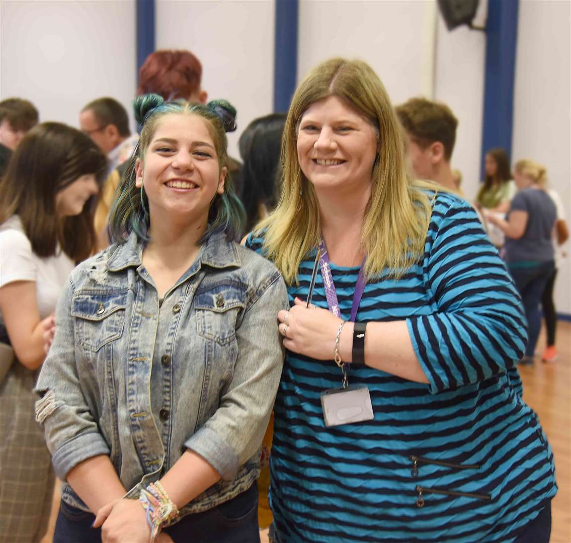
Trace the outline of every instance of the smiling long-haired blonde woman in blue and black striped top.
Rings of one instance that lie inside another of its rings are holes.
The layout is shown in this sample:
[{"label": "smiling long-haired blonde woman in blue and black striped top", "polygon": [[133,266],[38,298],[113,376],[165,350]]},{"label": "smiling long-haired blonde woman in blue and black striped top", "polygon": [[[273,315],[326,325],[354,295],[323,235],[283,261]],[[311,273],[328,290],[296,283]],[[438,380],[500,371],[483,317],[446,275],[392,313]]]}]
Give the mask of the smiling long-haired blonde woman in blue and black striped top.
[{"label": "smiling long-haired blonde woman in blue and black striped top", "polygon": [[282,163],[278,207],[246,240],[291,303],[277,540],[548,541],[552,453],[512,387],[516,290],[468,202],[408,177],[367,64],[328,60],[300,83]]}]

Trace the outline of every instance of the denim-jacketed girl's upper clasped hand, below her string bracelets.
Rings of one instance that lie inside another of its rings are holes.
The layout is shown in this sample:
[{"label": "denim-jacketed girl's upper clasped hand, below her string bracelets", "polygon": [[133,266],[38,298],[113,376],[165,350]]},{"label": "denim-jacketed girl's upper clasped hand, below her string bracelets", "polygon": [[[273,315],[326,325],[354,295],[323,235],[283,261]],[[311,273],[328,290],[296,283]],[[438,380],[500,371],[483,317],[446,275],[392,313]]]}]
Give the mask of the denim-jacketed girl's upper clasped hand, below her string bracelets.
[{"label": "denim-jacketed girl's upper clasped hand, below her string bracelets", "polygon": [[151,530],[139,500],[122,498],[104,505],[97,512],[94,528],[101,530],[103,543],[148,543]]}]

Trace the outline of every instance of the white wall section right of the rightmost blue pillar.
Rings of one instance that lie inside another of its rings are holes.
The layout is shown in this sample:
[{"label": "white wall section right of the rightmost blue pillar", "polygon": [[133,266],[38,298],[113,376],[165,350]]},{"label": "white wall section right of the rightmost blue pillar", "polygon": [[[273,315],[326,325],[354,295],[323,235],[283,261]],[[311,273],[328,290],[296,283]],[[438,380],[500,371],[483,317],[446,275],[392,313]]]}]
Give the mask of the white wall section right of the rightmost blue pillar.
[{"label": "white wall section right of the rightmost blue pillar", "polygon": [[[544,164],[571,224],[571,3],[520,2],[512,156]],[[555,285],[558,311],[571,313],[570,243]]]}]

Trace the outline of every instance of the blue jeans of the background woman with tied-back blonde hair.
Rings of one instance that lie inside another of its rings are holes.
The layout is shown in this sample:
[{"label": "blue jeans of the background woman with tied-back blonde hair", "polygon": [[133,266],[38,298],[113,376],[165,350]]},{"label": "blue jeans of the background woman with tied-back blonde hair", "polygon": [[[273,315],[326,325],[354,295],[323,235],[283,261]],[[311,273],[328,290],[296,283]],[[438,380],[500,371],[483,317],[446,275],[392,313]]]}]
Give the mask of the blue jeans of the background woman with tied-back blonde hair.
[{"label": "blue jeans of the background woman with tied-back blonde hair", "polygon": [[533,357],[537,338],[541,330],[541,311],[539,305],[545,290],[545,285],[553,274],[555,265],[553,261],[542,262],[536,266],[508,265],[509,273],[513,277],[516,288],[524,303],[525,317],[528,319],[528,347],[525,356]]}]

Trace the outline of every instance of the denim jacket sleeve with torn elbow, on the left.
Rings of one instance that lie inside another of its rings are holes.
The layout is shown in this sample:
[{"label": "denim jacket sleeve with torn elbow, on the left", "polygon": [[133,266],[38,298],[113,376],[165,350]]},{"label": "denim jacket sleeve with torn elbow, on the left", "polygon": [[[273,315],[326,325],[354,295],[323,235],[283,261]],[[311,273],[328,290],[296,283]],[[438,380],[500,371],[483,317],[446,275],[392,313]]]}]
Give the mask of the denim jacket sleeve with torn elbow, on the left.
[{"label": "denim jacket sleeve with torn elbow, on the left", "polygon": [[61,479],[82,461],[110,452],[83,395],[77,371],[71,316],[72,277],[59,298],[54,342],[34,390],[40,397],[36,402],[36,420],[45,428],[47,448]]}]

